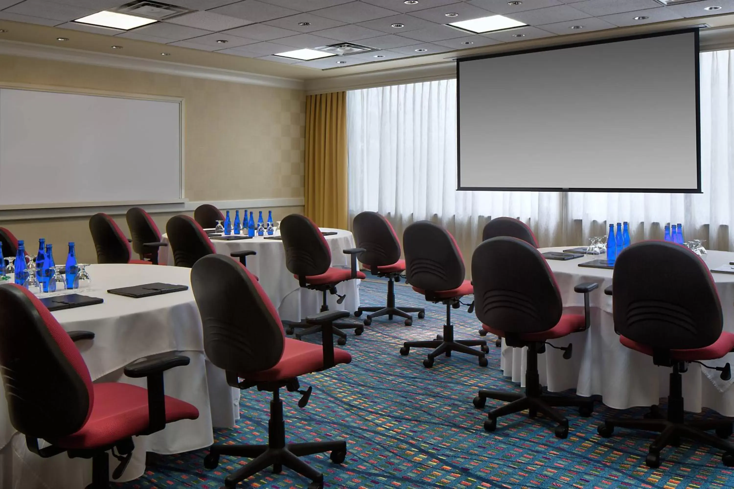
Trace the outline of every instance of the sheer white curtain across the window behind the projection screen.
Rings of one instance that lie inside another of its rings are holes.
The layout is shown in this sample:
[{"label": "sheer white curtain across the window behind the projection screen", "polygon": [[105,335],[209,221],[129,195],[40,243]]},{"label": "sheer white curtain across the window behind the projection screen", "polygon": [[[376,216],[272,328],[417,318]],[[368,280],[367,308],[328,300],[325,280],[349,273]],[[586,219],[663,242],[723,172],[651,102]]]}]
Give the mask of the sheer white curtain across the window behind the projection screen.
[{"label": "sheer white curtain across the window behind the projection screen", "polygon": [[[686,239],[733,248],[734,51],[701,54],[703,194],[457,191],[456,81],[353,90],[347,94],[350,221],[363,210],[390,218],[401,234],[429,219],[462,251],[479,243],[489,218],[531,225],[541,246],[581,244],[605,235],[606,221],[629,221],[633,240],[661,238],[667,222]],[[582,170],[583,171],[583,170]]]}]

